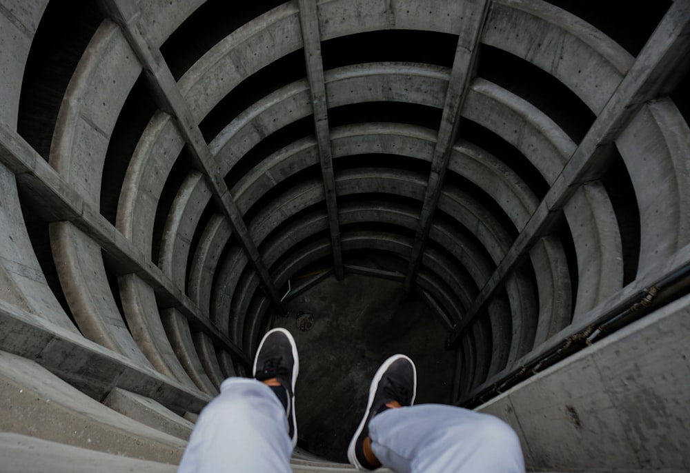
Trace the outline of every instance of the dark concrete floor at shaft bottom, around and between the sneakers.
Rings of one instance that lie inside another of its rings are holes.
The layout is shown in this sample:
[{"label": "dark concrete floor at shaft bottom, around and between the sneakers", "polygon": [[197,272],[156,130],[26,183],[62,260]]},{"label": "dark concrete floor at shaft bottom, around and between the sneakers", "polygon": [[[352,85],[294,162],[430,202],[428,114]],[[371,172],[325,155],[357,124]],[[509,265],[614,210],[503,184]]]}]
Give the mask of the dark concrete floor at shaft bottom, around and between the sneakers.
[{"label": "dark concrete floor at shaft bottom, around and between the sneakers", "polygon": [[[331,277],[290,301],[275,319],[295,337],[299,377],[295,412],[299,445],[322,459],[347,462],[346,450],[364,414],[380,364],[404,353],[417,365],[417,401],[449,403],[455,355],[437,316],[402,284],[370,276]],[[298,314],[313,315],[310,330]]]}]

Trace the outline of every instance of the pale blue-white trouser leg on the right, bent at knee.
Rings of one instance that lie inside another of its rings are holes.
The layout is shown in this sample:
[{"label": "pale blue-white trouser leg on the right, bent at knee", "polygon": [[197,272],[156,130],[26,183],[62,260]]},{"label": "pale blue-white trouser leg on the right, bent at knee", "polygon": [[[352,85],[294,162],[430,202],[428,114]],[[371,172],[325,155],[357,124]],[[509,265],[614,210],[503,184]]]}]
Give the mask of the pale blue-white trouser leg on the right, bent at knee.
[{"label": "pale blue-white trouser leg on the right, bent at knee", "polygon": [[451,405],[390,409],[369,422],[371,448],[397,473],[524,473],[517,434],[504,421]]}]

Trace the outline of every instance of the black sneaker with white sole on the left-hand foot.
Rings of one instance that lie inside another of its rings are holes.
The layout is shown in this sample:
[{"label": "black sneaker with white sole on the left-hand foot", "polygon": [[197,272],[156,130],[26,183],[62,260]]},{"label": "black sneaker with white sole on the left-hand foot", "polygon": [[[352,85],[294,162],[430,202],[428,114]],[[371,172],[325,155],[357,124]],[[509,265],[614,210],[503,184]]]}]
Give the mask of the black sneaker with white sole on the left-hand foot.
[{"label": "black sneaker with white sole on the left-hand foot", "polygon": [[[287,401],[285,413],[293,447],[297,445],[297,417],[295,416],[295,381],[299,372],[299,357],[295,339],[284,328],[274,328],[264,335],[254,359],[253,374],[259,381],[275,378],[284,388]],[[282,394],[282,393],[281,393]],[[277,394],[278,399],[282,396]]]}]

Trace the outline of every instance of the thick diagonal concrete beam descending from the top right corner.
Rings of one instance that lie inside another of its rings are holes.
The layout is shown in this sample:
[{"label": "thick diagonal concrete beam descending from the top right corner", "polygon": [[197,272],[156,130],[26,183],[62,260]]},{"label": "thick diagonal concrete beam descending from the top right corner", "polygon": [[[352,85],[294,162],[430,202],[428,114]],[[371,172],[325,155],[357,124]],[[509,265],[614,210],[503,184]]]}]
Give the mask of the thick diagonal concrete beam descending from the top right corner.
[{"label": "thick diagonal concrete beam descending from the top right corner", "polygon": [[460,340],[506,277],[529,253],[560,211],[583,183],[598,179],[607,170],[613,142],[644,103],[667,94],[687,72],[690,61],[690,2],[673,2],[649,41],[644,45],[629,72],[604,106],[578,148],[566,163],[540,207],[513,243],[473,303],[462,326],[449,339],[454,346]]}]

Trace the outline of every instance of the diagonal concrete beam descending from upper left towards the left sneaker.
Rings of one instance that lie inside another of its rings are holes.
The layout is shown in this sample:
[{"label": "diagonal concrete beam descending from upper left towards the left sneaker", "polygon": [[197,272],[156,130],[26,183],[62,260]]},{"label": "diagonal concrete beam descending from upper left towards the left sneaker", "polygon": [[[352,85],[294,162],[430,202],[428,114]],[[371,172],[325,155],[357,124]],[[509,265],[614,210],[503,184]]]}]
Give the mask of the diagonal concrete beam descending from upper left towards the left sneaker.
[{"label": "diagonal concrete beam descending from upper left towards the left sneaker", "polygon": [[175,117],[179,130],[193,154],[195,165],[208,179],[213,198],[228,218],[233,232],[246,251],[271,301],[279,312],[284,313],[275,284],[270,279],[266,265],[244,223],[242,213],[239,212],[224,177],[218,170],[190,107],[182,96],[160,50],[152,46],[150,38],[146,37],[146,28],[141,25],[138,6],[130,0],[101,0],[101,3],[112,15],[113,21],[119,24],[132,50],[137,54],[159,106]]}]

